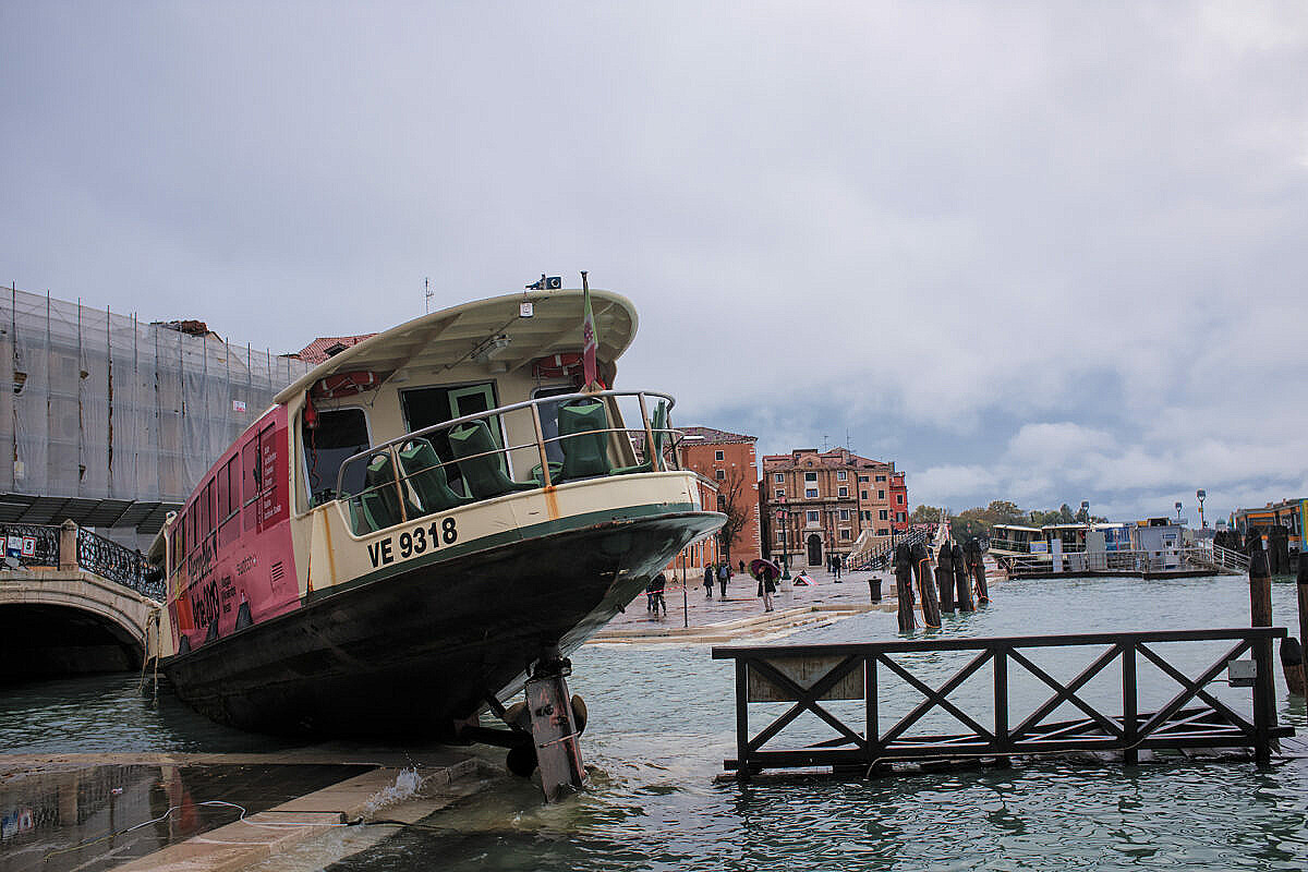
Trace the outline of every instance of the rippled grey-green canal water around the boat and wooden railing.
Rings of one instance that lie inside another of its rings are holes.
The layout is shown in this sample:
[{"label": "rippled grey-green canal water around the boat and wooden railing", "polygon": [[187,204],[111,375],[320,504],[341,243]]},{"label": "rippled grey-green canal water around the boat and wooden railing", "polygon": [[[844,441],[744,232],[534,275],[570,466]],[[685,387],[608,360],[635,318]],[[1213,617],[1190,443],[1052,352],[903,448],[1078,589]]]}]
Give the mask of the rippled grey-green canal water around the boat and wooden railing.
[{"label": "rippled grey-green canal water around the boat and wooden railing", "polygon": [[[1274,584],[1277,624],[1294,622],[1295,586]],[[1241,578],[1065,579],[991,587],[981,612],[946,618],[940,637],[1027,635],[1113,630],[1241,626],[1248,583]],[[869,613],[811,629],[793,642],[896,638],[895,616]],[[920,634],[921,635],[921,634]],[[1201,650],[1202,648],[1202,650]],[[586,646],[573,655],[572,689],[589,705],[583,756],[591,769],[578,797],[544,805],[539,788],[505,778],[492,791],[446,809],[421,828],[398,831],[337,860],[297,851],[294,868],[409,869],[1304,869],[1308,858],[1308,760],[1258,771],[1252,762],[1171,758],[1120,763],[1031,761],[1007,770],[910,774],[872,780],[829,778],[782,783],[721,783],[734,748],[734,672],[709,646]],[[1193,675],[1222,654],[1209,645],[1167,650]],[[1097,651],[1037,659],[1066,681]],[[935,684],[957,668],[948,656],[916,660]],[[1112,668],[1109,668],[1112,677]],[[1224,676],[1223,676],[1224,677]],[[1141,671],[1142,694],[1162,701],[1177,690]],[[1112,685],[1112,686],[1110,686]],[[65,689],[80,702],[68,705]],[[1248,710],[1247,689],[1210,686]],[[1014,684],[1018,715],[1048,696]],[[920,696],[887,688],[886,709]],[[982,724],[989,682],[951,696]],[[1083,694],[1110,711],[1116,679]],[[896,696],[899,694],[899,696]],[[37,685],[0,702],[5,750],[256,750],[272,745],[192,719],[166,699],[143,705],[135,679]],[[861,702],[831,703],[833,710]],[[1023,709],[1024,707],[1024,709]],[[1142,707],[1144,707],[1142,705]],[[766,711],[768,706],[757,706]],[[1070,711],[1058,716],[1076,716]],[[751,718],[755,715],[751,714]],[[1278,716],[1308,736],[1301,699],[1284,692],[1278,668]],[[761,720],[752,722],[757,731]],[[888,727],[883,719],[882,729]],[[946,724],[939,724],[946,728]],[[798,740],[824,737],[797,724]],[[807,732],[806,732],[807,731]],[[811,733],[811,735],[810,735]],[[221,797],[216,797],[221,799]],[[271,868],[292,868],[276,863]]]}]

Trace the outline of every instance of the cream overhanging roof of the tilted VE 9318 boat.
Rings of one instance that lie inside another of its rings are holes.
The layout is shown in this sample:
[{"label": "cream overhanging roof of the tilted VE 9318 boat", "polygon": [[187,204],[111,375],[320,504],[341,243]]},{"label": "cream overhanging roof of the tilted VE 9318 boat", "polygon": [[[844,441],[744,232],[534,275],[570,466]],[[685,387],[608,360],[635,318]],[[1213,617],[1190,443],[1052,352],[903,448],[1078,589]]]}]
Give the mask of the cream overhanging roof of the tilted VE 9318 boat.
[{"label": "cream overhanging roof of the tilted VE 9318 boat", "polygon": [[[531,318],[519,314],[521,303],[532,303]],[[590,292],[596,357],[616,361],[636,336],[636,306],[621,294]],[[336,373],[369,370],[382,375],[405,366],[453,369],[467,361],[487,341],[508,336],[510,343],[496,357],[514,371],[545,354],[579,353],[582,292],[528,290],[479,299],[443,309],[377,333],[327,358],[285,387],[277,403],[286,403],[320,378]]]}]

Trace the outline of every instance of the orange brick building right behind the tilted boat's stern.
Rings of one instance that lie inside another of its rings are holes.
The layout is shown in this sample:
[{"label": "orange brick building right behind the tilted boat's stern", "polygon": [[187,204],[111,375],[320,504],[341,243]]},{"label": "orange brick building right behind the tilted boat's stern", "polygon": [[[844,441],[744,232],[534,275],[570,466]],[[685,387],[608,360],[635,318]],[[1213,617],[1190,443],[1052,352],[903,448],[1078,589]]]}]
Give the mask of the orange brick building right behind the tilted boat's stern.
[{"label": "orange brick building right behind the tilted boat's stern", "polygon": [[[739,433],[713,428],[678,428],[685,438],[679,446],[679,460],[685,469],[693,469],[717,485],[719,509],[722,502],[734,499],[746,511],[746,523],[731,540],[731,563],[739,569],[763,553],[759,536],[759,472],[755,443],[757,439]],[[704,503],[713,507],[712,502]],[[701,544],[702,546],[702,544]],[[702,550],[702,548],[701,548]],[[726,554],[721,554],[722,558]],[[717,557],[709,557],[715,560]],[[692,561],[693,565],[693,561]],[[700,563],[702,566],[702,562]]]}]

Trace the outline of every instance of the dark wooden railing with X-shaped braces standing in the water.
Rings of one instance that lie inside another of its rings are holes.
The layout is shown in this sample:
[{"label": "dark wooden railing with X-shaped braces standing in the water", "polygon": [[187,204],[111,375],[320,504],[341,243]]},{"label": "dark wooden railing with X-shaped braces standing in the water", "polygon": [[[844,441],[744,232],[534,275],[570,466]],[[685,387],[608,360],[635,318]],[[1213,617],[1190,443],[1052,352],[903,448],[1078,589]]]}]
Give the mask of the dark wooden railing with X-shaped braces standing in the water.
[{"label": "dark wooden railing with X-shaped braces standing in the water", "polygon": [[[1266,761],[1274,739],[1294,735],[1292,728],[1275,726],[1273,699],[1271,641],[1284,637],[1284,628],[1248,628],[715,647],[714,659],[735,662],[736,757],[726,760],[725,767],[748,779],[751,773],[764,769],[871,769],[889,761],[914,758],[1006,758],[1071,750],[1117,750],[1122,752],[1126,762],[1135,762],[1141,749],[1222,746],[1252,746],[1258,760]],[[1232,645],[1197,677],[1158,650],[1160,645],[1172,642],[1214,641],[1230,641]],[[1059,681],[1037,664],[1033,651],[1046,648],[1086,648],[1088,663],[1070,681]],[[934,663],[938,669],[942,654],[951,651],[974,654],[940,682],[923,681],[909,668]],[[1252,713],[1239,711],[1240,706],[1223,702],[1207,689],[1232,660],[1249,651],[1253,651],[1256,663]],[[1109,671],[1114,662],[1118,668]],[[1137,667],[1142,663],[1152,664],[1171,680],[1168,684],[1180,686],[1155,711],[1141,710]],[[991,680],[986,702],[993,711],[989,718],[973,718],[950,696],[988,665]],[[1019,673],[1033,676],[1052,693],[1029,715],[1011,723],[1010,685]],[[1120,675],[1120,696],[1114,696],[1121,699],[1121,713],[1103,711],[1087,701],[1086,685],[1101,673]],[[903,681],[923,697],[888,728],[882,724],[878,689],[883,679]],[[823,705],[831,699],[862,699],[861,723],[848,722],[832,713]],[[749,705],[757,702],[793,705],[763,729],[751,732]],[[1065,703],[1084,716],[1049,722],[1049,716]],[[836,735],[799,748],[774,746],[778,733],[804,713],[816,715]],[[920,724],[930,713],[947,713],[971,732],[944,735],[922,731]]]}]

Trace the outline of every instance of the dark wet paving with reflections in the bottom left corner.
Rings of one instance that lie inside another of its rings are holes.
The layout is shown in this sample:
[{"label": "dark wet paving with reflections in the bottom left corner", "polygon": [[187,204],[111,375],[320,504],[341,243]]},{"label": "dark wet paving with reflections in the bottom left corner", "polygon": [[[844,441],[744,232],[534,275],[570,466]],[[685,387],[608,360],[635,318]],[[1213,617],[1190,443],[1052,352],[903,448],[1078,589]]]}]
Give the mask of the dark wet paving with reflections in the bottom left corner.
[{"label": "dark wet paving with reflections in the bottom left corner", "polygon": [[110,765],[0,780],[0,872],[109,869],[369,771]]}]

